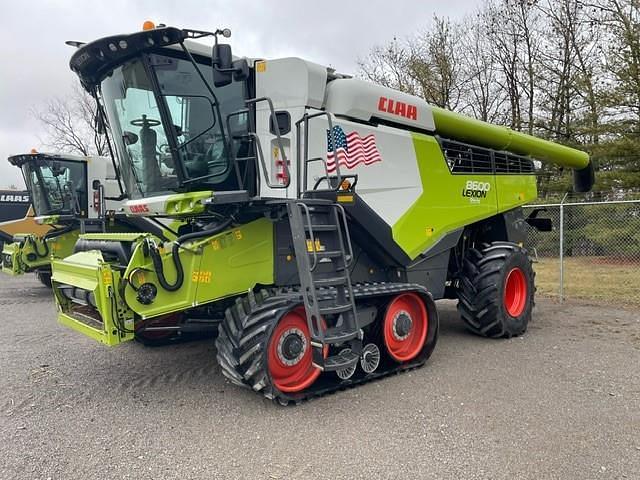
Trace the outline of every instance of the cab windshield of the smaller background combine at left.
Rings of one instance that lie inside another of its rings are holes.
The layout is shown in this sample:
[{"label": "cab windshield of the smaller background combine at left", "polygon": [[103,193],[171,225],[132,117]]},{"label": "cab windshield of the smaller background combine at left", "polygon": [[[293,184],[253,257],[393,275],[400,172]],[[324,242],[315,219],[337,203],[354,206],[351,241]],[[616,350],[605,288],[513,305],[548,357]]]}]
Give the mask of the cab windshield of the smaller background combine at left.
[{"label": "cab windshield of the smaller background combine at left", "polygon": [[86,165],[72,160],[34,160],[22,165],[36,215],[84,215]]}]

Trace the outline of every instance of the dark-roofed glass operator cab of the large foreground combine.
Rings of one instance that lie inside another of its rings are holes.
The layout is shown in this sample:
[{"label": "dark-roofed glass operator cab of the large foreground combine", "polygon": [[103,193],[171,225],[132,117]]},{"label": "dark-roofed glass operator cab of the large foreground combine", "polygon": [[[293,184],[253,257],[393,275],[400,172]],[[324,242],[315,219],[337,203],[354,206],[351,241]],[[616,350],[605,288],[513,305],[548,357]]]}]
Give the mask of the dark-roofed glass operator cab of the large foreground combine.
[{"label": "dark-roofed glass operator cab of the large foreground combine", "polygon": [[[230,141],[235,132],[249,131],[248,67],[246,61],[239,69],[228,64],[220,81],[211,50],[205,55],[202,46],[185,45],[207,35],[215,34],[154,28],[94,41],[71,59],[106,113],[131,199],[257,191],[252,162],[235,161],[250,155],[250,142]],[[216,41],[214,54],[219,47],[228,48]],[[224,53],[230,60],[230,50]]]}]

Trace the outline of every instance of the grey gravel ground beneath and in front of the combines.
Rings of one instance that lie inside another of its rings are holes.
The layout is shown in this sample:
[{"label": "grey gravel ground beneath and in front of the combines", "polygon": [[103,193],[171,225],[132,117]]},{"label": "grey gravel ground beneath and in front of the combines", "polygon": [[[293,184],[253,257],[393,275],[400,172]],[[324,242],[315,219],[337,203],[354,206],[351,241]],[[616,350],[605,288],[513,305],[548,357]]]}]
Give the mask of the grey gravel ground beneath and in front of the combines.
[{"label": "grey gravel ground beneath and in front of the combines", "polygon": [[212,341],[103,347],[0,278],[0,478],[640,478],[640,320],[540,300],[521,338],[439,304],[427,365],[276,406],[228,384]]}]

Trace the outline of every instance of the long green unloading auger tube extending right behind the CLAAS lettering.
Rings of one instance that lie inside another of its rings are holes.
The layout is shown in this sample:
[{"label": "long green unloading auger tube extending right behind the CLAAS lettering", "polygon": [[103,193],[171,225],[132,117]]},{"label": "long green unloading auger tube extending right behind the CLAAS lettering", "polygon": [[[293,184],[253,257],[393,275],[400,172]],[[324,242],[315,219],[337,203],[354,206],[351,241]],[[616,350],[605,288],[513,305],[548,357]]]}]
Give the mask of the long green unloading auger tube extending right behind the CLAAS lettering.
[{"label": "long green unloading auger tube extending right behind the CLAAS lettering", "polygon": [[589,155],[586,152],[516,132],[507,127],[492,125],[444,108],[431,108],[436,133],[440,136],[481,147],[528,155],[563,167],[580,169],[589,164]]}]

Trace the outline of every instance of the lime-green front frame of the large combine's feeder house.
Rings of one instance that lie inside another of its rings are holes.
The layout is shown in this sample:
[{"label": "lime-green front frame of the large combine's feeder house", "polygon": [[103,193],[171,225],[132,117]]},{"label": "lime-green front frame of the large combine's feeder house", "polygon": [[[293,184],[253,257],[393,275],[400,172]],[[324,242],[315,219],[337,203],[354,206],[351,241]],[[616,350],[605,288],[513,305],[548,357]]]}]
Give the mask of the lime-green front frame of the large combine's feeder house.
[{"label": "lime-green front frame of the large combine's feeder house", "polygon": [[[96,250],[75,253],[66,259],[54,260],[51,266],[58,321],[62,325],[105,345],[117,345],[133,339],[133,312],[124,305],[114,288],[121,281],[120,273],[104,262],[102,253]],[[92,318],[86,309],[66,298],[59,288],[55,288],[56,284],[73,285],[92,292],[99,318]],[[129,332],[119,331],[115,315]]]}]

